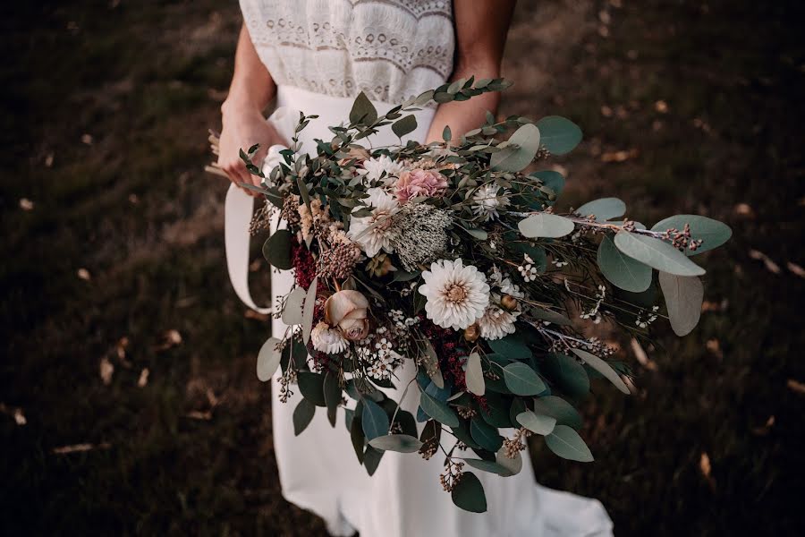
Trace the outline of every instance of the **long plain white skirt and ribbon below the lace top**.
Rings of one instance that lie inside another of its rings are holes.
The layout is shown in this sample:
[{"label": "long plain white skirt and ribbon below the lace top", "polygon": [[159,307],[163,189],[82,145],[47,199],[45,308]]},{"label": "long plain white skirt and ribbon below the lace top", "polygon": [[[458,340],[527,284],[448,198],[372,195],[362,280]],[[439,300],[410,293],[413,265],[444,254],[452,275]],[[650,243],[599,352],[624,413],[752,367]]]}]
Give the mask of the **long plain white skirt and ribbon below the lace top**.
[{"label": "long plain white skirt and ribbon below the lace top", "polygon": [[[391,106],[376,103],[385,113]],[[344,122],[352,99],[318,95],[306,90],[280,87],[277,109],[269,118],[277,130],[290,140],[299,112],[318,114],[301,132],[301,149],[313,152],[313,139],[329,140],[327,126]],[[418,128],[406,139],[424,141],[433,110],[416,113]],[[390,128],[370,137],[364,145],[378,147],[399,143]],[[251,300],[247,282],[252,198],[234,186],[226,200],[226,253],[230,277],[243,302],[258,311]],[[292,271],[272,273],[271,304],[287,294]],[[272,321],[274,334],[283,334],[282,320]],[[396,371],[398,389],[386,390],[399,401],[402,389],[415,374],[411,362]],[[274,386],[275,380],[273,381]],[[299,437],[293,434],[292,413],[301,396],[299,390],[287,403],[272,401],[276,462],[283,496],[299,507],[321,516],[333,535],[360,532],[361,537],[577,537],[612,535],[612,521],[596,499],[547,489],[534,481],[530,458],[523,456],[522,470],[513,477],[475,471],[487,495],[487,513],[475,514],[453,505],[450,494],[442,490],[439,473],[444,457],[425,461],[416,454],[386,452],[373,476],[358,463],[349,431],[344,426],[343,409],[333,428],[326,412],[318,408],[313,421]],[[402,408],[416,414],[418,392],[411,389]],[[420,424],[421,426],[421,424]],[[443,435],[443,441],[444,441]]]}]

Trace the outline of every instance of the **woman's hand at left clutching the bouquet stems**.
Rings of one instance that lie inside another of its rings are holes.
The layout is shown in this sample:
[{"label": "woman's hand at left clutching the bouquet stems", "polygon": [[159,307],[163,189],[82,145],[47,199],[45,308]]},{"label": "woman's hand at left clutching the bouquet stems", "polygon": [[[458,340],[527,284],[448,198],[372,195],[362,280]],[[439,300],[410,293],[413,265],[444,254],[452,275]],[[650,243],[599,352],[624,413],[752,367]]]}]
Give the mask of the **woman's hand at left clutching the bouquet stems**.
[{"label": "woman's hand at left clutching the bouquet stems", "polygon": [[[254,144],[259,144],[258,152],[252,161],[255,166],[260,167],[269,147],[275,144],[287,145],[287,142],[255,107],[225,103],[221,110],[224,128],[218,143],[218,166],[221,166],[229,176],[229,180],[238,186],[241,186],[241,183],[259,186],[261,179],[257,175],[251,175],[246,169],[246,164],[240,156],[241,149],[248,151]],[[243,190],[251,195],[257,195],[257,192],[247,188]]]}]

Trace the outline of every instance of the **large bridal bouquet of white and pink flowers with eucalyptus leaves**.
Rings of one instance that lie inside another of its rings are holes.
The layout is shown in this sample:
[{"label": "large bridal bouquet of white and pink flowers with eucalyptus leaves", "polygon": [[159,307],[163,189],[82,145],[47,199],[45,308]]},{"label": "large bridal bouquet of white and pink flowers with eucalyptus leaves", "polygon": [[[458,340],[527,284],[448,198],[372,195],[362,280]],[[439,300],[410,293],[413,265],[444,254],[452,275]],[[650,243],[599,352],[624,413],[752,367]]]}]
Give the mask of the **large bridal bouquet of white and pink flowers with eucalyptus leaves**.
[{"label": "large bridal bouquet of white and pink flowers with eucalyptus leaves", "polygon": [[[369,474],[386,451],[444,457],[442,486],[476,512],[486,498],[467,466],[513,475],[531,435],[557,456],[593,460],[575,405],[599,378],[628,394],[630,370],[585,325],[635,336],[667,316],[687,334],[699,320],[705,272],[691,258],[731,234],[693,215],[648,228],[624,217],[616,198],[555,209],[563,176],[529,170],[580,142],[580,129],[562,117],[490,114],[459,140],[445,128],[444,142],[429,145],[361,144],[387,127],[402,139],[417,126],[411,112],[428,101],[507,85],[455,81],[385,115],[361,94],[312,156],[298,151],[312,115],[300,116],[292,147],[262,170],[251,162],[257,147],[241,155],[263,178],[262,187],[244,185],[265,195],[263,226],[278,212],[263,253],[295,277],[276,304],[288,328],[260,349],[259,379],[281,368],[280,399],[299,390],[296,434],[317,407],[335,427],[344,406]],[[654,303],[657,284],[665,310]],[[403,379],[406,362],[416,372]],[[383,388],[402,390],[400,400]],[[401,401],[414,392],[419,407],[409,413]]]}]

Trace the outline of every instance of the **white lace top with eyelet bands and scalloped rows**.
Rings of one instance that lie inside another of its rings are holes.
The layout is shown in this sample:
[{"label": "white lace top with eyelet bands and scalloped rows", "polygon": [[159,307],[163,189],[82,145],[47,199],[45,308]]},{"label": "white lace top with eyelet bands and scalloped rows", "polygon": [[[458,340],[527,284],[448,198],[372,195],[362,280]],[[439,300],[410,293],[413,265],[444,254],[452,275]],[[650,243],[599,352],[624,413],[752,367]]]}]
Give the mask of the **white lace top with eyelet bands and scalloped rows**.
[{"label": "white lace top with eyelet bands and scalloped rows", "polygon": [[241,0],[277,85],[399,103],[453,71],[452,0]]}]

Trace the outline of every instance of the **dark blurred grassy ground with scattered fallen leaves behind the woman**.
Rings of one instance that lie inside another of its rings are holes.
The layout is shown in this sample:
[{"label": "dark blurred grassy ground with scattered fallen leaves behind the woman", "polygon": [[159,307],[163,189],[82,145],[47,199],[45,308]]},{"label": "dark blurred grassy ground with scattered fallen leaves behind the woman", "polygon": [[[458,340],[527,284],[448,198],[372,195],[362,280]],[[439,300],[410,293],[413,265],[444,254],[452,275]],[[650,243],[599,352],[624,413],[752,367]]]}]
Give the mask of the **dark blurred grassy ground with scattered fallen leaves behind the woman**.
[{"label": "dark blurred grassy ground with scattered fallen leaves behind the woman", "polygon": [[[228,183],[203,172],[237,2],[0,15],[0,534],[325,535],[280,495],[267,319],[229,286]],[[616,342],[638,392],[589,399],[597,461],[532,449],[538,480],[601,499],[617,535],[805,530],[803,20],[795,0],[519,2],[501,113],[582,126],[554,160],[564,206],[733,227],[698,258],[699,328]]]}]

